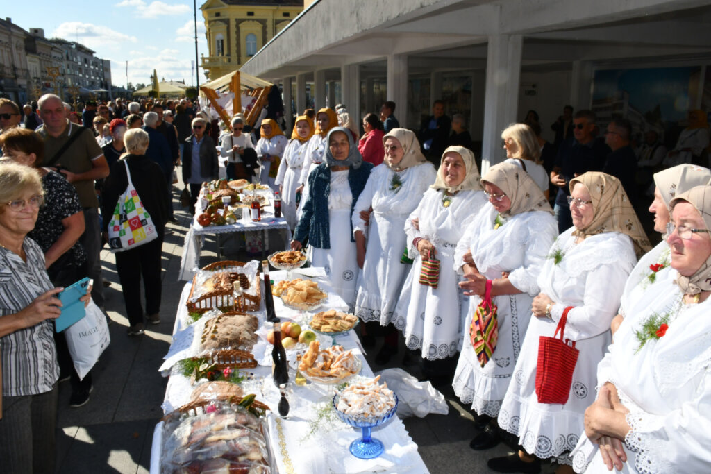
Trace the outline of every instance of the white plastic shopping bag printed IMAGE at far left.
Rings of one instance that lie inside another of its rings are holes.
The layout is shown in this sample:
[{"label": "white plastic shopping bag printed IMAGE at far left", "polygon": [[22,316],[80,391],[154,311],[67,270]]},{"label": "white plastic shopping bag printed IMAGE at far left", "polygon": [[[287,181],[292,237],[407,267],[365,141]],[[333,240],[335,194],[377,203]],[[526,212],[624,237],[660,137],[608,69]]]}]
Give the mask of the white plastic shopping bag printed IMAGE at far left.
[{"label": "white plastic shopping bag printed IMAGE at far left", "polygon": [[64,330],[69,354],[80,379],[91,370],[111,342],[106,316],[94,300],[85,308],[87,316]]}]

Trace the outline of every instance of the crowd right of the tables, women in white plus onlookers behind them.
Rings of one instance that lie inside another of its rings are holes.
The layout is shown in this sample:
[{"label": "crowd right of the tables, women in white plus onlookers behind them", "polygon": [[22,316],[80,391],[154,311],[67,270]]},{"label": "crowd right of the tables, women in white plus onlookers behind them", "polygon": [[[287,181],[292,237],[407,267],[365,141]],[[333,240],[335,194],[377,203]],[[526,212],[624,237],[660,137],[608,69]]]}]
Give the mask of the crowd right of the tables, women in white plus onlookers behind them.
[{"label": "crowd right of the tables, women in white plus onlookers behind them", "polygon": [[[653,169],[648,212],[662,242],[652,249],[636,167],[661,153],[649,144],[637,158],[624,119],[602,141],[593,112],[567,112],[557,151],[531,111],[502,131],[507,159],[483,176],[471,149],[448,145],[463,131],[442,132],[454,122],[442,102],[419,136],[367,114],[359,140],[321,109],[309,139],[305,113],[277,181],[291,173],[291,247],[325,267],[364,345],[385,336],[376,362],[402,335],[402,365],[419,363],[471,404],[472,449],[513,436],[519,451],[488,460],[491,470],[537,473],[553,460],[559,473],[701,472],[711,171],[693,158]],[[376,140],[382,163],[366,159]]]}]

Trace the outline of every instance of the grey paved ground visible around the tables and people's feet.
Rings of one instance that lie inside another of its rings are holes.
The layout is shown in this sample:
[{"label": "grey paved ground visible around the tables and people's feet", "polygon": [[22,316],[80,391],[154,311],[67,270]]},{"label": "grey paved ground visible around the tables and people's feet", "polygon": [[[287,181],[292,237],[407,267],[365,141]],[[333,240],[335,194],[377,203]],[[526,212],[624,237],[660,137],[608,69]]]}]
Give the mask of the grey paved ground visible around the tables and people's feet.
[{"label": "grey paved ground visible around the tables and people's feet", "polygon": [[[104,276],[112,283],[105,288],[106,309],[113,321],[109,326],[111,344],[92,370],[94,391],[89,403],[77,409],[70,408],[70,384],[60,384],[58,473],[149,472],[153,431],[163,416],[160,405],[166,389],[166,379],[161,377],[158,367],[170,345],[178,298],[185,284],[184,281],[177,281],[177,275],[190,217],[180,208],[179,193],[178,188],[173,188],[173,208],[176,209],[179,222],[169,222],[169,232],[166,232],[163,245],[161,323],[148,325],[145,335],[127,335],[128,320],[124,316],[124,301],[114,256],[107,249],[102,252]],[[270,236],[269,242],[271,250],[277,251],[282,239],[274,234]],[[215,249],[215,240],[207,237],[201,266],[216,260]],[[246,258],[244,252],[235,247],[228,247],[227,250],[228,257]],[[400,353],[392,357],[386,366],[379,366],[373,360],[378,345],[370,348],[366,355],[374,371],[396,367],[402,362],[402,338]],[[405,368],[415,377],[421,375],[416,368]],[[488,451],[472,451],[469,441],[476,435],[476,431],[471,413],[467,406],[459,403],[451,387],[444,386],[441,389],[449,404],[449,414],[405,420],[405,426],[419,446],[425,465],[433,474],[489,472],[486,460],[506,456],[513,452],[513,448],[500,443]],[[553,467],[546,464],[543,472],[552,473]]]}]

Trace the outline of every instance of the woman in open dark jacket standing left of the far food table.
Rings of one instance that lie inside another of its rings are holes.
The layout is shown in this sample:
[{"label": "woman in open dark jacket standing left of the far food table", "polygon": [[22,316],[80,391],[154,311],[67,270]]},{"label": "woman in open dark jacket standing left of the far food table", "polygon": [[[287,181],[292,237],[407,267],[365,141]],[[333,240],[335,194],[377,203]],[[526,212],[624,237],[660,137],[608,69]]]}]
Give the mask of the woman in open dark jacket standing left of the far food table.
[{"label": "woman in open dark jacket standing left of the far food table", "polygon": [[[183,143],[183,184],[190,185],[190,208],[194,213],[201,185],[218,178],[218,151],[215,141],[205,134],[205,120],[199,117],[193,119],[193,134]],[[197,156],[195,150],[199,150]]]}]

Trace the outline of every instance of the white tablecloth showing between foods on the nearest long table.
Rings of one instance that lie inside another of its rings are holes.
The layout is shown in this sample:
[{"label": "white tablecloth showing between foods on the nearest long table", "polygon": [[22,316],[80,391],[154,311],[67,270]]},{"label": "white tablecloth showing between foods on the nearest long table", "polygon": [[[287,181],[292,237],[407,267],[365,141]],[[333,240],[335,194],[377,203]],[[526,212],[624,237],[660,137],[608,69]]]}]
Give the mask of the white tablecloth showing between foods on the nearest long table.
[{"label": "white tablecloth showing between foods on the nearest long table", "polygon": [[[328,293],[328,300],[321,307],[335,308],[339,311],[346,311],[348,306],[328,283],[323,269],[302,269],[292,271],[291,278],[309,277],[318,282],[319,286]],[[285,279],[285,271],[273,271],[271,277],[274,281]],[[164,375],[170,375],[166,387],[166,396],[163,408],[167,413],[182,404],[185,404],[192,391],[189,380],[174,369],[166,366],[171,365],[174,360],[183,358],[186,352],[179,352],[176,349],[185,347],[186,340],[191,338],[193,325],[188,325],[188,312],[186,301],[190,292],[190,284],[187,284],[181,294],[181,301],[178,305],[176,323],[173,328],[173,347],[166,357],[172,356],[173,360],[166,361]],[[287,308],[280,298],[274,298],[274,306],[277,315],[282,320],[292,320],[300,323],[302,327],[311,319],[308,312],[294,311]],[[317,309],[316,311],[320,311]],[[263,308],[255,313],[260,320],[260,331],[269,327],[264,323],[265,315]],[[199,323],[199,322],[198,322]],[[195,323],[196,325],[198,323]],[[319,342],[322,347],[331,344],[331,338],[319,335]],[[352,349],[354,354],[362,362],[363,369],[357,377],[373,377],[373,371],[368,366],[368,362],[363,357],[363,348],[360,347],[358,338],[351,333],[338,336],[337,343],[343,345],[345,349]],[[260,338],[252,352],[255,354],[257,362],[260,363],[250,372],[251,379],[243,382],[242,387],[245,393],[257,394],[257,399],[266,403],[272,411],[267,414],[267,427],[269,433],[269,443],[277,464],[278,473],[372,473],[372,472],[397,472],[397,473],[427,473],[427,467],[422,462],[417,445],[412,441],[407,433],[402,421],[393,416],[383,426],[373,429],[373,436],[383,441],[385,452],[378,458],[363,460],[355,458],[348,451],[348,447],[355,439],[360,438],[360,430],[352,428],[337,419],[335,413],[319,419],[319,416],[332,411],[331,400],[333,399],[333,387],[308,383],[304,386],[294,384],[294,369],[289,370],[288,396],[290,411],[289,416],[282,419],[277,415],[277,404],[279,402],[279,392],[271,376],[271,345]],[[288,352],[287,357],[294,359],[294,353]],[[330,407],[330,410],[329,410]],[[156,425],[151,448],[151,473],[159,473],[160,450],[162,446],[162,426],[163,422]]]}]

